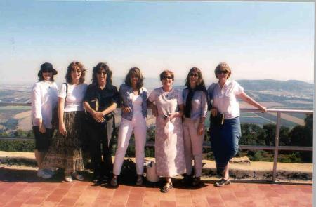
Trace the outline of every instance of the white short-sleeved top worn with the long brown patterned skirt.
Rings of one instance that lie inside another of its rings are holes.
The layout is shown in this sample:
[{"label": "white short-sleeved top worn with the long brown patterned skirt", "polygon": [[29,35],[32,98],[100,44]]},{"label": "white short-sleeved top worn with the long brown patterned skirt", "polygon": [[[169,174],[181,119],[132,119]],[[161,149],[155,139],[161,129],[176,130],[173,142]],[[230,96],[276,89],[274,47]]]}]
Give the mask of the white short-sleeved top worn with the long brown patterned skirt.
[{"label": "white short-sleeved top worn with the long brown patterned skirt", "polygon": [[[82,106],[82,101],[84,100],[84,95],[86,93],[87,84],[79,85],[68,85],[67,98],[65,101],[64,112],[77,112],[83,111],[84,107]],[[60,98],[66,97],[66,84],[62,84],[60,88],[60,93],[58,95]]]}]

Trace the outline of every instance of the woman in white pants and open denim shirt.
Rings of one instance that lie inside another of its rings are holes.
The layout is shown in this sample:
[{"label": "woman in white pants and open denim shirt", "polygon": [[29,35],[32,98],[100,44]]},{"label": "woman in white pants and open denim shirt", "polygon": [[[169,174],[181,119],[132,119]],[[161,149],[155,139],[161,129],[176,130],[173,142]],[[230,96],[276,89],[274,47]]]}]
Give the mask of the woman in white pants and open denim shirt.
[{"label": "woman in white pants and open denim shirt", "polygon": [[121,173],[121,166],[132,132],[135,135],[136,185],[142,185],[147,131],[147,90],[143,88],[143,75],[139,68],[133,67],[129,70],[125,84],[119,87],[119,96],[122,105],[121,124],[113,166],[113,178],[110,185],[117,186],[117,176]]}]

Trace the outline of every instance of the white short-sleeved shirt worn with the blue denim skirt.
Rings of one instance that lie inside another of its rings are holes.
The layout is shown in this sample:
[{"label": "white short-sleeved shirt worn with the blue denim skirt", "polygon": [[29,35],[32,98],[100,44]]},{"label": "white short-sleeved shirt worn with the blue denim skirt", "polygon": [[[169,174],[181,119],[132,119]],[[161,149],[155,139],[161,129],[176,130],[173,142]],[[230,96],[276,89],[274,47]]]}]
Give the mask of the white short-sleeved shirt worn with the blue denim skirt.
[{"label": "white short-sleeved shirt worn with the blue denim skirt", "polygon": [[244,88],[236,81],[226,81],[223,88],[218,83],[211,84],[207,90],[209,98],[213,99],[213,107],[224,114],[224,119],[240,116],[239,103],[236,95],[241,94]]}]

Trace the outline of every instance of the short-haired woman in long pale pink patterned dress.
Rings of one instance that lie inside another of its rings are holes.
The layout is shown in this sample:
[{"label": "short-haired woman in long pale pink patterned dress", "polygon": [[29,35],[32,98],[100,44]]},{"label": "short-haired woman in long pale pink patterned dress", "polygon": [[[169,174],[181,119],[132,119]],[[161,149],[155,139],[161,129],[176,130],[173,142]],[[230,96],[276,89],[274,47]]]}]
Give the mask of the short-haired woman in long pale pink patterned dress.
[{"label": "short-haired woman in long pale pink patterned dress", "polygon": [[173,72],[162,72],[162,87],[155,88],[148,98],[156,116],[154,157],[157,174],[166,179],[162,192],[168,192],[173,187],[171,177],[185,173],[183,98],[181,91],[173,88],[173,80]]}]

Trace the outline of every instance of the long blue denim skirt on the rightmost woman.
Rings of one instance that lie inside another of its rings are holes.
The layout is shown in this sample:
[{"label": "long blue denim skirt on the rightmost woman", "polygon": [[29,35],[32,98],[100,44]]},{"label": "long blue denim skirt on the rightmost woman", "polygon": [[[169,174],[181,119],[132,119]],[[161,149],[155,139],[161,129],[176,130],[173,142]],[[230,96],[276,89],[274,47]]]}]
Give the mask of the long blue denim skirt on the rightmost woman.
[{"label": "long blue denim skirt on the rightmost woman", "polygon": [[218,175],[223,175],[228,161],[237,154],[238,142],[241,136],[239,116],[225,119],[223,125],[211,128],[211,149],[215,157]]}]

